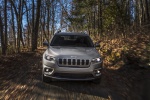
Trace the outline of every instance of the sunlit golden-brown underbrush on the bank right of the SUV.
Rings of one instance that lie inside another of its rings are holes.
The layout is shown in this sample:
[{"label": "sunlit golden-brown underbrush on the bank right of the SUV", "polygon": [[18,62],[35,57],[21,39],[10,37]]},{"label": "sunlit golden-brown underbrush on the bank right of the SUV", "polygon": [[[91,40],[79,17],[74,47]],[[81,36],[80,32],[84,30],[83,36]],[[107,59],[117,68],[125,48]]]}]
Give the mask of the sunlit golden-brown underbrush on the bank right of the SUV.
[{"label": "sunlit golden-brown underbrush on the bank right of the SUV", "polygon": [[[97,39],[98,40],[98,39]],[[99,52],[103,56],[104,66],[118,69],[130,64],[136,67],[150,65],[150,36],[133,34],[123,38],[121,36],[101,37]]]}]

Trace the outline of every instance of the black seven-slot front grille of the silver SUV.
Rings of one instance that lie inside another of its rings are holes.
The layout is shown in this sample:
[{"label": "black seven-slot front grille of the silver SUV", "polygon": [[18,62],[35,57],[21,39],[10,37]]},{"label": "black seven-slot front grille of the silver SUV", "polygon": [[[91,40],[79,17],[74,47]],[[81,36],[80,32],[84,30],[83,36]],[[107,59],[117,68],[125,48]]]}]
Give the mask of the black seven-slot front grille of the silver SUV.
[{"label": "black seven-slot front grille of the silver SUV", "polygon": [[88,67],[90,65],[89,59],[73,59],[73,58],[59,58],[58,59],[59,66],[82,66]]}]

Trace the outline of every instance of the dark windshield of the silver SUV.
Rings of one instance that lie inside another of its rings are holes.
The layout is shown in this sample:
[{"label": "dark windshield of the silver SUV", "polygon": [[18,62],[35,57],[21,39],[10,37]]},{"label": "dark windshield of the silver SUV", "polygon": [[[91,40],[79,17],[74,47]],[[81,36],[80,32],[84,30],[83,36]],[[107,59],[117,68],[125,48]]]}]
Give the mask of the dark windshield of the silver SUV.
[{"label": "dark windshield of the silver SUV", "polygon": [[55,35],[50,46],[94,47],[88,36],[79,35]]}]

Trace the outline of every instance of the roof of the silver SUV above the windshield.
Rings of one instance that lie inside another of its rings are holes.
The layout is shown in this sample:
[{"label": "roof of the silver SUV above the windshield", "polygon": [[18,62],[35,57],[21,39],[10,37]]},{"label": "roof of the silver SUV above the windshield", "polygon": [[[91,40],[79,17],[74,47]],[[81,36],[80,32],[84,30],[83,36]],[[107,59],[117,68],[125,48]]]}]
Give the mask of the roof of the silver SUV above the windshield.
[{"label": "roof of the silver SUV above the windshield", "polygon": [[80,36],[89,36],[87,33],[84,32],[58,32],[54,35],[80,35]]}]

